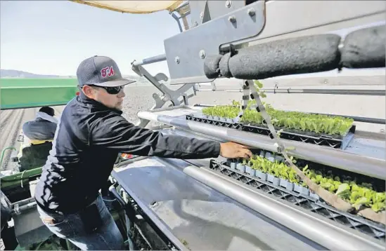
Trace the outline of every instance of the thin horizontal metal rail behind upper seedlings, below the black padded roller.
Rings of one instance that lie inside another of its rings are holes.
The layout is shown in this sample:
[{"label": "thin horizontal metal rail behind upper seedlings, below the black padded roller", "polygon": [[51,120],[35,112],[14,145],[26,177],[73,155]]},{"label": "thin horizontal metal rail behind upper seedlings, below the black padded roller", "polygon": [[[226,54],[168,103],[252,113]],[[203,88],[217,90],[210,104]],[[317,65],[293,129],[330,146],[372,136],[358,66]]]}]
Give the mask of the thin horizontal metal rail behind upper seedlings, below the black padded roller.
[{"label": "thin horizontal metal rail behind upper seedlings, below the black padded roller", "polygon": [[385,90],[334,90],[334,89],[262,89],[266,93],[285,93],[285,94],[333,94],[333,95],[368,95],[385,96]]}]

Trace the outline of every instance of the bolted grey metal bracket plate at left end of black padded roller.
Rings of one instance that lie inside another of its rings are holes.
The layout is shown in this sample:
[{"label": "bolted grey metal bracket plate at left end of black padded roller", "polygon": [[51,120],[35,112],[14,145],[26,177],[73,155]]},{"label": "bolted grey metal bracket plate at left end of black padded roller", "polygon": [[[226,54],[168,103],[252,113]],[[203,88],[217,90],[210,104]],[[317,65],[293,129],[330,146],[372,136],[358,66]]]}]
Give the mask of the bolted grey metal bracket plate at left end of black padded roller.
[{"label": "bolted grey metal bracket plate at left end of black padded roller", "polygon": [[[197,10],[202,10],[202,22],[198,27],[176,34],[164,42],[172,84],[213,81],[207,79],[202,67],[206,55],[217,55],[221,44],[257,36],[262,31],[265,24],[264,1],[248,6],[244,6],[244,1],[233,1],[234,10],[226,8],[224,3],[226,1],[205,1],[205,5],[193,8],[195,1],[189,1],[191,17],[194,20]],[[222,8],[217,4],[221,4]]]}]

